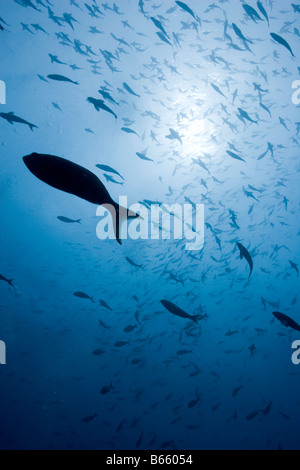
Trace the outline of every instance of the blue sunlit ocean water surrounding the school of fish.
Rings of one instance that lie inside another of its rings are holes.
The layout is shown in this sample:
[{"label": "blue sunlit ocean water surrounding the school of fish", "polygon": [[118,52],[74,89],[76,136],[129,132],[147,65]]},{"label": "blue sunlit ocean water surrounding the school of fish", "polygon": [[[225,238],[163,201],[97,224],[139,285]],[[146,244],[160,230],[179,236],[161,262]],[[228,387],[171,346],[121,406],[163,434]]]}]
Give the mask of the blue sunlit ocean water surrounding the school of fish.
[{"label": "blue sunlit ocean water surrounding the school of fish", "polygon": [[[300,332],[273,316],[300,322],[299,13],[1,1],[1,449],[300,448]],[[115,201],[204,204],[204,248],[99,240],[97,207],[35,178],[33,152]]]}]

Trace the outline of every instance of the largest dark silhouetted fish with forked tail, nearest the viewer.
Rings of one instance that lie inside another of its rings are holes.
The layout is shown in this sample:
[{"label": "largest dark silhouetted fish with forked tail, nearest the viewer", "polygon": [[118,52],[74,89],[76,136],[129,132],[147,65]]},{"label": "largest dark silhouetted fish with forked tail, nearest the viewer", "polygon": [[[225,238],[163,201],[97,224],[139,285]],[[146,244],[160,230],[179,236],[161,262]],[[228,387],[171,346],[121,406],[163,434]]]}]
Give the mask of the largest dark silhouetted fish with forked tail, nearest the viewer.
[{"label": "largest dark silhouetted fish with forked tail, nearest the viewer", "polygon": [[[111,211],[114,220],[114,231],[117,242],[122,245],[120,228],[126,219],[139,218],[139,215],[121,208],[113,201],[104,184],[86,168],[69,160],[53,155],[32,153],[23,157],[28,170],[39,180],[49,186],[68,194],[77,196],[92,204],[105,205]],[[117,217],[111,210],[114,208]],[[121,220],[119,215],[121,212]]]}]

